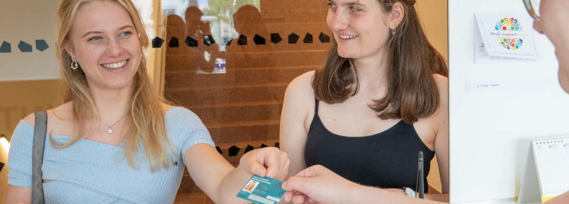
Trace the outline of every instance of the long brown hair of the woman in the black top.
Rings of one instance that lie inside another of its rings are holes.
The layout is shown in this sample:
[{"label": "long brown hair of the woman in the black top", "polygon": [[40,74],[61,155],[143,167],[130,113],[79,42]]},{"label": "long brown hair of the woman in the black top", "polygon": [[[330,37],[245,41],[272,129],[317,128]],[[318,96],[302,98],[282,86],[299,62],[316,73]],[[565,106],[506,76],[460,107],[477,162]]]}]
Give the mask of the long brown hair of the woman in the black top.
[{"label": "long brown hair of the woman in the black top", "polygon": [[[385,13],[391,12],[396,2],[405,10],[395,34],[386,42],[386,94],[369,107],[383,120],[402,118],[412,124],[439,108],[440,93],[433,74],[448,77],[447,62],[427,40],[413,6],[415,0],[377,1]],[[328,104],[344,102],[356,95],[360,86],[353,60],[340,57],[337,49],[334,40],[323,69],[316,71],[312,80],[316,99]]]}]

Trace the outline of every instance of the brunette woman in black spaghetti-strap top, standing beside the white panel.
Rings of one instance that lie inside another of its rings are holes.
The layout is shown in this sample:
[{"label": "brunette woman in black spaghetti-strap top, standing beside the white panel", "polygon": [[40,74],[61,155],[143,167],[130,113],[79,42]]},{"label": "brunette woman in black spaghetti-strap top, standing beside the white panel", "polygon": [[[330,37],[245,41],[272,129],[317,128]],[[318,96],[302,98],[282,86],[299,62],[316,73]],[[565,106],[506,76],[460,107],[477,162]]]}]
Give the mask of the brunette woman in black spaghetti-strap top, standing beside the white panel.
[{"label": "brunette woman in black spaghetti-strap top, standing beside the white panel", "polygon": [[448,200],[448,69],[414,4],[328,0],[334,42],[324,67],[298,76],[284,96],[288,176],[319,164],[357,184],[413,196],[418,152],[425,175],[436,152],[443,194],[425,198]]}]

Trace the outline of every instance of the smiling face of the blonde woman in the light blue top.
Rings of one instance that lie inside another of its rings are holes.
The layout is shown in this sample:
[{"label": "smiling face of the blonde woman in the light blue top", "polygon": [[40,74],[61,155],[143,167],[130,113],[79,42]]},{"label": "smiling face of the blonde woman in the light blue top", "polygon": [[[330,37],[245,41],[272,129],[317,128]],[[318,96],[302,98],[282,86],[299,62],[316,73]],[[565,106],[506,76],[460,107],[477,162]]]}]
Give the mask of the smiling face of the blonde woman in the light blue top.
[{"label": "smiling face of the blonde woman in the light blue top", "polygon": [[142,59],[133,20],[112,1],[82,5],[64,46],[83,69],[90,88],[130,87]]}]

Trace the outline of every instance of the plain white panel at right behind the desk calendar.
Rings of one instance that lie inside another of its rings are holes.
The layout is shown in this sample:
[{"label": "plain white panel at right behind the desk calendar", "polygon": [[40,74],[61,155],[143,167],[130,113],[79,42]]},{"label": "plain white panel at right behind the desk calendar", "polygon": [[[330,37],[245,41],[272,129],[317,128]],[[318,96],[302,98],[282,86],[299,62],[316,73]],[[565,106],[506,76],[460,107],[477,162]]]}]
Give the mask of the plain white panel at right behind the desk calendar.
[{"label": "plain white panel at right behind the desk calendar", "polygon": [[[542,60],[475,64],[475,14],[526,12],[521,0],[448,0],[451,203],[518,197],[530,138],[569,134],[569,95],[545,35]],[[512,88],[467,92],[477,82]]]}]

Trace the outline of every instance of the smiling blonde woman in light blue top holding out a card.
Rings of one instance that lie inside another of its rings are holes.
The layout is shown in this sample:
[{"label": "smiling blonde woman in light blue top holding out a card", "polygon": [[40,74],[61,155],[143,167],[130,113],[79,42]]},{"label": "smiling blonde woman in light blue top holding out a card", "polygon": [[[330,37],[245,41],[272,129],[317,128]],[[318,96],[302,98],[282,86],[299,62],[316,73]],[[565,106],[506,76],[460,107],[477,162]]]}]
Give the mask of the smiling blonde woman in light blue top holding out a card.
[{"label": "smiling blonde woman in light blue top holding out a card", "polygon": [[[64,103],[47,111],[46,203],[172,203],[185,167],[216,203],[246,203],[235,195],[253,174],[284,179],[286,154],[250,151],[234,168],[195,114],[153,91],[130,0],[64,0],[57,18]],[[34,120],[11,139],[5,203],[31,203]]]}]

